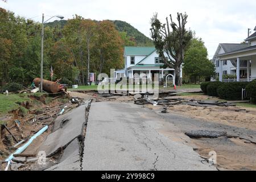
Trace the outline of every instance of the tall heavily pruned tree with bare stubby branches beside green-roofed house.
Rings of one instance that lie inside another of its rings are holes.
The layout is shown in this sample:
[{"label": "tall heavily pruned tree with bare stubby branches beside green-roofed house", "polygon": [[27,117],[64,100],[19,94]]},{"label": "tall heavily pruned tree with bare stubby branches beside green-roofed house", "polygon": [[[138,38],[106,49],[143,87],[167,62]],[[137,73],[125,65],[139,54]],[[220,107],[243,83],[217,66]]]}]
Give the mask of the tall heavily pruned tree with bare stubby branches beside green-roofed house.
[{"label": "tall heavily pruned tree with bare stubby branches beside green-roofed house", "polygon": [[192,39],[192,31],[185,29],[187,18],[188,15],[186,13],[177,13],[177,24],[172,20],[172,15],[170,15],[170,24],[168,17],[164,24],[158,19],[158,14],[151,18],[151,37],[156,51],[163,60],[165,68],[175,69],[175,84],[179,86],[182,84],[180,67],[184,62],[184,51]]}]

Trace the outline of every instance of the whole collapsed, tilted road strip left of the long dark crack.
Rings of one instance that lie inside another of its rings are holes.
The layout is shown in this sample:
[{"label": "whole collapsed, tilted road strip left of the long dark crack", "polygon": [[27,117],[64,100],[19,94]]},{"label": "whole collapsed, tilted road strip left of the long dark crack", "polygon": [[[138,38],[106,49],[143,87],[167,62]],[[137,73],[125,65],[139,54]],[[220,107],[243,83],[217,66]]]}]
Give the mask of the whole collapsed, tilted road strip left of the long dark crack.
[{"label": "whole collapsed, tilted road strip left of the long dark crack", "polygon": [[55,120],[53,131],[40,146],[39,151],[50,157],[60,153],[59,162],[46,171],[80,171],[83,142],[90,100]]}]

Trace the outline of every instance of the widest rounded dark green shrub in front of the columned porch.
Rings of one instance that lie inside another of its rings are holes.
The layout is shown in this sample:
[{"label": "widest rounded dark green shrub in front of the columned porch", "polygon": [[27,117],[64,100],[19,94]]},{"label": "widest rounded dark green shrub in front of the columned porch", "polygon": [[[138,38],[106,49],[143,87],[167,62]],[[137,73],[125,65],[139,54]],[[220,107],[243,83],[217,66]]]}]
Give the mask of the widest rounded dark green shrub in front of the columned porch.
[{"label": "widest rounded dark green shrub in front of the columned porch", "polygon": [[223,83],[217,89],[218,97],[225,100],[241,100],[242,89],[245,89],[249,82],[228,82]]}]

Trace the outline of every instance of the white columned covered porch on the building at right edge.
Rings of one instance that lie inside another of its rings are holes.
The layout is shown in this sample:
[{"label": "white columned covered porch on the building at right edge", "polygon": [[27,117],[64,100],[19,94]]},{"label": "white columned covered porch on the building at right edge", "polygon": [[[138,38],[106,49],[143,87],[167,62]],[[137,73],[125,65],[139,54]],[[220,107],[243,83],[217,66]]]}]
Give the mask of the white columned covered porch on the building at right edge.
[{"label": "white columned covered porch on the building at right edge", "polygon": [[[224,73],[222,70],[222,62],[225,60],[232,61],[236,66],[236,79],[234,81],[251,81],[256,79],[256,46],[218,55],[217,58],[220,60],[219,81],[227,81],[223,79]],[[246,65],[246,69],[242,68],[241,65]]]}]

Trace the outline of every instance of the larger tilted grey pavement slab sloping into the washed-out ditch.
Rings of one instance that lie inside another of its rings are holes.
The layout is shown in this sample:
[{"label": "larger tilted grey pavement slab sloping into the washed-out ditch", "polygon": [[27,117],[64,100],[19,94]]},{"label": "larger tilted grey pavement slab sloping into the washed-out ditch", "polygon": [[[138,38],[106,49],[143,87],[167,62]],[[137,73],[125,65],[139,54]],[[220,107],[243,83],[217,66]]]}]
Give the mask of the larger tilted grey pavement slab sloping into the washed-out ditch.
[{"label": "larger tilted grey pavement slab sloping into the washed-out ditch", "polygon": [[[53,133],[48,135],[42,146],[39,147],[39,151],[45,151],[47,156],[52,156],[61,148],[67,147],[72,140],[80,137],[86,122],[85,109],[88,105],[89,101],[85,105],[56,118]],[[63,123],[63,121],[67,122]]]}]

